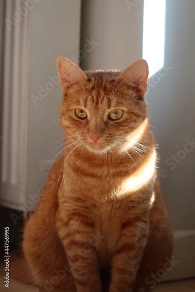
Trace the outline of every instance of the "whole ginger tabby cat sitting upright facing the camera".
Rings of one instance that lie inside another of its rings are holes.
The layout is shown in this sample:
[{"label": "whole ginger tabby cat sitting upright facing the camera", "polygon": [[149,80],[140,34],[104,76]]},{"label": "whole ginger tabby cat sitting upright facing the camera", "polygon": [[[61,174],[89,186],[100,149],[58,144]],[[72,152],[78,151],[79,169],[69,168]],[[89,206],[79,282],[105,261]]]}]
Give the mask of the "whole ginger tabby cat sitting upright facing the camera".
[{"label": "whole ginger tabby cat sitting upright facing the camera", "polygon": [[122,72],[83,72],[63,57],[57,65],[64,153],[25,225],[16,276],[46,292],[150,291],[173,238],[144,99],[147,62]]}]

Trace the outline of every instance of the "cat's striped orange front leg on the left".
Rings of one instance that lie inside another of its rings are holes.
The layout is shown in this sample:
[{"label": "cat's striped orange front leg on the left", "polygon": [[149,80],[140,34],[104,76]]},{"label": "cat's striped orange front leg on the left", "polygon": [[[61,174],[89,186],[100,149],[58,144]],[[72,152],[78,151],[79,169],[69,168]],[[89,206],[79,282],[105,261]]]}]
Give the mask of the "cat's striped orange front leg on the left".
[{"label": "cat's striped orange front leg on the left", "polygon": [[101,292],[98,259],[92,242],[93,222],[86,214],[74,210],[60,212],[57,230],[75,279],[77,292]]}]

